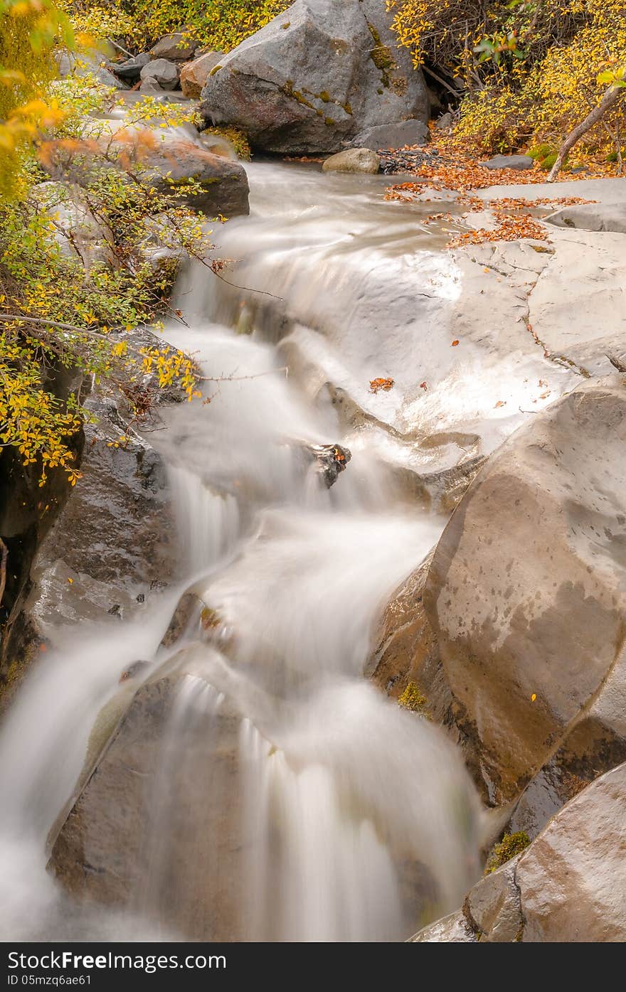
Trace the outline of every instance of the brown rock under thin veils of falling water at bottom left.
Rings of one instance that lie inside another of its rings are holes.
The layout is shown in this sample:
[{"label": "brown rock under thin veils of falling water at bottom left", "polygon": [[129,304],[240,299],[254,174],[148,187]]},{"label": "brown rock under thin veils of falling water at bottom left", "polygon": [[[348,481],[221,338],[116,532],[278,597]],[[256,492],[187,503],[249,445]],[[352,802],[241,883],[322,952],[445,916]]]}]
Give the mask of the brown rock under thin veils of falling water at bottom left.
[{"label": "brown rock under thin veils of falling water at bottom left", "polygon": [[[182,690],[195,694],[180,710]],[[153,919],[190,939],[244,939],[239,894],[249,837],[233,802],[239,713],[227,700],[215,706],[216,692],[184,674],[118,697],[126,711],[98,718],[103,732],[94,728],[88,757],[98,748],[99,755],[51,837],[51,868],[83,905],[137,909],[139,898]],[[210,788],[199,787],[207,772]]]}]

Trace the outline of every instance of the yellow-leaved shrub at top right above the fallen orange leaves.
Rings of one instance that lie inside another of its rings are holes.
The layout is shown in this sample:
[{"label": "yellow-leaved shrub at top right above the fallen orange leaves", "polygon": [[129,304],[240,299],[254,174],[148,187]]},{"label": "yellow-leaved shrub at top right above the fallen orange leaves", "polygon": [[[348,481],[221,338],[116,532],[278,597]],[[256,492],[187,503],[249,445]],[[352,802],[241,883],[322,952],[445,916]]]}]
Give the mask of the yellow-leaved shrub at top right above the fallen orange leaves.
[{"label": "yellow-leaved shrub at top right above the fallen orange leaves", "polygon": [[[626,66],[626,0],[386,2],[416,65],[460,79],[456,135],[486,151],[559,147]],[[622,132],[618,105],[581,151],[619,149]]]}]

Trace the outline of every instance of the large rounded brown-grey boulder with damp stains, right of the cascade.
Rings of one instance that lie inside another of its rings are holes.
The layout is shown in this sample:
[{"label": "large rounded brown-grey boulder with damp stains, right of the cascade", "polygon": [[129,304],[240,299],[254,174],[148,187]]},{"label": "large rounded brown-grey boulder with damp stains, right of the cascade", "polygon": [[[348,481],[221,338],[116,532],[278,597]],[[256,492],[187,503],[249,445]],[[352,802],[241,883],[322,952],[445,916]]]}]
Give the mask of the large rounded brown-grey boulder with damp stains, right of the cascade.
[{"label": "large rounded brown-grey boulder with damp stains, right of the cascade", "polygon": [[526,789],[515,829],[626,758],[625,438],[623,377],[573,390],[492,456],[430,568],[450,717],[492,805]]}]

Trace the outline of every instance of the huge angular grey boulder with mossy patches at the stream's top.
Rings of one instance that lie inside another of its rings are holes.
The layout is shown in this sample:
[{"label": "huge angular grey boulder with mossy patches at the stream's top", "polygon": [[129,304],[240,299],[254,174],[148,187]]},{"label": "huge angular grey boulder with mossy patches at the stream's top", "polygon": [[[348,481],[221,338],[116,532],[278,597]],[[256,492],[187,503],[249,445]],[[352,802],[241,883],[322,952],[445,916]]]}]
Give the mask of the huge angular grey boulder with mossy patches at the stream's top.
[{"label": "huge angular grey boulder with mossy patches at the stream's top", "polygon": [[429,95],[380,0],[296,0],[211,69],[202,112],[257,149],[336,152],[359,132],[427,121]]}]

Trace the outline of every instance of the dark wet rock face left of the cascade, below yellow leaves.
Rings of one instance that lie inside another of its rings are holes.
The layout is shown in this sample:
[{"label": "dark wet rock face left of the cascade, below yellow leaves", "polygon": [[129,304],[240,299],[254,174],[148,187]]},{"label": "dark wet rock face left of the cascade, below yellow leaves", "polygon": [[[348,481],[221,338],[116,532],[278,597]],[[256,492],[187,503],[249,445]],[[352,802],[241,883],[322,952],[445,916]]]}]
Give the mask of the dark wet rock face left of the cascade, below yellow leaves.
[{"label": "dark wet rock face left of the cascade, below yellow leaves", "polygon": [[[126,335],[128,337],[128,335]],[[149,331],[133,344],[161,345]],[[150,389],[147,379],[145,388]],[[178,396],[164,394],[173,402]],[[82,478],[33,571],[36,583],[26,615],[44,636],[63,622],[125,617],[149,604],[176,568],[174,522],[167,474],[150,434],[125,443],[130,414],[124,401],[99,387],[86,401],[97,423],[85,425]],[[158,407],[153,410],[158,426]]]}]

